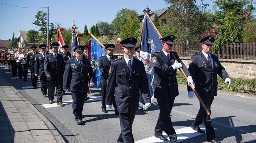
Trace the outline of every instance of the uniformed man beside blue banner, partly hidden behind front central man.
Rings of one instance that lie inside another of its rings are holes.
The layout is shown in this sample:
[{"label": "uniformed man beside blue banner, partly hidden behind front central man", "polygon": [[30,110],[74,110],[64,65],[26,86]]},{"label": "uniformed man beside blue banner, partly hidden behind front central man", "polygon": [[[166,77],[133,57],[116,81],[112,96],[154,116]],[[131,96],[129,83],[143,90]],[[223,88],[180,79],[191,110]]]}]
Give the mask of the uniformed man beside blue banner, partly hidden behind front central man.
[{"label": "uniformed man beside blue banner, partly hidden behind front central man", "polygon": [[[115,49],[115,44],[108,44],[105,46],[106,49],[106,55],[100,57],[99,59],[99,67],[100,67],[100,74],[101,74],[101,80],[100,80],[100,94],[101,94],[101,109],[102,112],[107,113],[106,110],[106,86],[107,86],[107,80],[109,75],[109,68],[111,65],[111,61],[114,59],[117,59],[117,56],[113,55],[113,51]],[[117,113],[117,111],[116,111]]]}]

